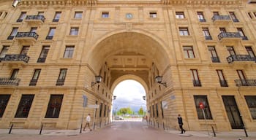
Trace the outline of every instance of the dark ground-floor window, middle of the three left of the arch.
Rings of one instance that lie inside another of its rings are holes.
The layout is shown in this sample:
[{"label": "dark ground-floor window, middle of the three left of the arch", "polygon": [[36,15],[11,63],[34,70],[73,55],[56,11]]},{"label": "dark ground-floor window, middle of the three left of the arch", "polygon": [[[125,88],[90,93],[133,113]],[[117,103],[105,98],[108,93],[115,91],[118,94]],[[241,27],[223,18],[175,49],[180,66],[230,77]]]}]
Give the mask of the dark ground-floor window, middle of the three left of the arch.
[{"label": "dark ground-floor window, middle of the three left of the arch", "polygon": [[15,117],[28,117],[34,95],[22,95]]}]

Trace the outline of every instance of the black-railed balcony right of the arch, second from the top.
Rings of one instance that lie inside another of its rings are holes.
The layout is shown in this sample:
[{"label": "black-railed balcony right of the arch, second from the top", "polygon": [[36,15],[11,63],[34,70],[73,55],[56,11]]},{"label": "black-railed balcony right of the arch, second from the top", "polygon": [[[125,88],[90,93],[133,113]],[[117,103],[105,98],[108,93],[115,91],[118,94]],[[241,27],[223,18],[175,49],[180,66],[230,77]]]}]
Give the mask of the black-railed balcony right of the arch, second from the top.
[{"label": "black-railed balcony right of the arch, second from the top", "polygon": [[219,41],[222,43],[234,43],[243,38],[238,32],[222,32],[218,35]]}]

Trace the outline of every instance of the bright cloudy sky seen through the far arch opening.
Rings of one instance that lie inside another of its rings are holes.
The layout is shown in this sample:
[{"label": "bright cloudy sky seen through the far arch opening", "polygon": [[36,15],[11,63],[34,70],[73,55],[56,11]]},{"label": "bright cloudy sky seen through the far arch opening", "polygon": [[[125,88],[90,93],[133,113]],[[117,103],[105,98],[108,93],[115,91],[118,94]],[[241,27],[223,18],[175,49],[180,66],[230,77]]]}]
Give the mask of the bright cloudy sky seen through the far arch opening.
[{"label": "bright cloudy sky seen through the far arch opening", "polygon": [[143,100],[143,96],[146,96],[146,91],[135,80],[120,82],[113,91],[113,96],[116,96],[116,100],[113,100],[113,112],[116,112],[116,108],[118,110],[126,107],[138,112],[141,106],[146,111],[146,101]]}]

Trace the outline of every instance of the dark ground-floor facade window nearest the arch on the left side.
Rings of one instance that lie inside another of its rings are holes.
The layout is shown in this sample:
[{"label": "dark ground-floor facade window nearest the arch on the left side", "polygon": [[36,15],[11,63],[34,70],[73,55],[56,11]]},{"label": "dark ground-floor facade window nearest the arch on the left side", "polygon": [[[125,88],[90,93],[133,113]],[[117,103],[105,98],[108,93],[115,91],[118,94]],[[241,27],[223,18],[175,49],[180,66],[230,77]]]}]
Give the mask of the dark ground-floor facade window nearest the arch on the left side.
[{"label": "dark ground-floor facade window nearest the arch on the left side", "polygon": [[61,112],[62,99],[63,95],[50,95],[50,101],[48,103],[45,118],[59,118],[59,112]]}]

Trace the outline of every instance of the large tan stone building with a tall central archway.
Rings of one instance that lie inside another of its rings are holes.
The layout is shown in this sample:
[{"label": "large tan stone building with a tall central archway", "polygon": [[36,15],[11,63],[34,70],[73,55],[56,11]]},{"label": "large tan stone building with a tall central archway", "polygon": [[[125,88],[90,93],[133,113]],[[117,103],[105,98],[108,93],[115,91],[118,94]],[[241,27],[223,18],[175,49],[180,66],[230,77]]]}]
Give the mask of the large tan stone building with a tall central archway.
[{"label": "large tan stone building with a tall central archway", "polygon": [[0,128],[80,128],[94,114],[83,96],[99,105],[95,123],[107,125],[114,88],[135,79],[152,125],[178,128],[181,114],[190,131],[256,131],[255,6],[0,0]]}]

